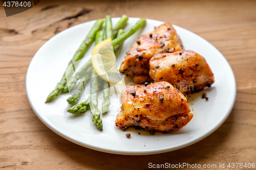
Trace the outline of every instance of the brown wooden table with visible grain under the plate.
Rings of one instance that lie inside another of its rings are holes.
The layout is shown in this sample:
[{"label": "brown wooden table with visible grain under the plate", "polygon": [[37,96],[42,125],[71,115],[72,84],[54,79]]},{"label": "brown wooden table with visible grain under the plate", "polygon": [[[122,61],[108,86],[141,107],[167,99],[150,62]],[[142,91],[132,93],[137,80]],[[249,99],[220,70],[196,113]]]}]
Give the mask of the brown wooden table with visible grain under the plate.
[{"label": "brown wooden table with visible grain under the plate", "polygon": [[[0,169],[146,169],[150,162],[256,163],[255,8],[256,1],[41,1],[28,11],[6,17],[1,7]],[[216,46],[237,80],[236,103],[226,122],[196,144],[148,156],[83,148],[42,124],[25,89],[32,57],[58,32],[106,14],[167,21]]]}]

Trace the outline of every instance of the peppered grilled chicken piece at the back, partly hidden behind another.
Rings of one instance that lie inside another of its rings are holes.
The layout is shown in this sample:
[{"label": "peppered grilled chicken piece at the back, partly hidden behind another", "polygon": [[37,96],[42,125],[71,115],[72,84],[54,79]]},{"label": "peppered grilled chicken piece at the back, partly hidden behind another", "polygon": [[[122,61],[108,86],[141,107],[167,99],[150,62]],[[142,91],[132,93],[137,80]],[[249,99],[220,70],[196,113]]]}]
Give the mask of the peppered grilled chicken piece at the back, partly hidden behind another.
[{"label": "peppered grilled chicken piece at the back, partly hidden behind another", "polygon": [[120,72],[128,75],[148,75],[151,57],[158,53],[182,50],[181,40],[170,23],[163,23],[151,33],[141,35],[132,44]]}]

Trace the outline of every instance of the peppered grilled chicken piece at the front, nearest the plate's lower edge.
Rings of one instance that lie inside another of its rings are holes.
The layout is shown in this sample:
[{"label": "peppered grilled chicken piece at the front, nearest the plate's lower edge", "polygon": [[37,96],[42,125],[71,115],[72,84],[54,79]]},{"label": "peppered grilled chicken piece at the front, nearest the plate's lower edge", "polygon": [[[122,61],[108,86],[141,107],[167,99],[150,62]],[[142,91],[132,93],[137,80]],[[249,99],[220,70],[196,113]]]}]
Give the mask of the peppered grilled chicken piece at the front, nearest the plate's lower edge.
[{"label": "peppered grilled chicken piece at the front, nearest the plate's lower edge", "polygon": [[185,96],[168,82],[128,86],[122,90],[120,100],[121,112],[116,117],[116,126],[122,130],[135,126],[174,132],[193,117]]}]

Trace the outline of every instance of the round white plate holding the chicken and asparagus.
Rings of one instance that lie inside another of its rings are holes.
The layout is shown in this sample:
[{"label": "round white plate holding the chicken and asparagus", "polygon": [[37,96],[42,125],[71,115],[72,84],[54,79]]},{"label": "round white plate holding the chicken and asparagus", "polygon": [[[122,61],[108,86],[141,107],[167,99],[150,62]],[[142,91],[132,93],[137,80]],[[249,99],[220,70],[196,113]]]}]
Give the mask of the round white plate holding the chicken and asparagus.
[{"label": "round white plate holding the chicken and asparagus", "polygon": [[[133,26],[138,19],[129,18],[126,29]],[[119,18],[113,18],[113,25],[118,20]],[[28,100],[36,115],[47,127],[58,135],[93,150],[123,155],[148,155],[187,147],[210,135],[222,125],[232,110],[236,98],[236,80],[232,69],[213,45],[178,26],[174,28],[180,35],[185,50],[193,50],[205,57],[216,80],[212,88],[206,88],[202,92],[193,94],[191,96],[193,99],[188,99],[194,117],[181,130],[155,135],[134,128],[123,132],[115,127],[114,121],[120,105],[114,101],[110,106],[113,110],[102,116],[103,132],[101,132],[93,124],[90,111],[80,115],[72,115],[66,111],[70,107],[66,101],[70,94],[61,94],[52,103],[45,104],[49,92],[60,80],[69,60],[94,22],[81,23],[55,35],[41,46],[29,65],[26,78]],[[147,19],[144,29],[140,29],[125,40],[117,59],[118,67],[133,41],[162,23]],[[94,44],[85,58],[90,56],[93,46]],[[119,88],[118,91],[120,90]],[[203,92],[207,92],[208,102],[201,98]],[[101,108],[100,104],[99,108]],[[141,134],[137,135],[137,132]],[[131,133],[131,138],[126,138],[125,133]]]}]

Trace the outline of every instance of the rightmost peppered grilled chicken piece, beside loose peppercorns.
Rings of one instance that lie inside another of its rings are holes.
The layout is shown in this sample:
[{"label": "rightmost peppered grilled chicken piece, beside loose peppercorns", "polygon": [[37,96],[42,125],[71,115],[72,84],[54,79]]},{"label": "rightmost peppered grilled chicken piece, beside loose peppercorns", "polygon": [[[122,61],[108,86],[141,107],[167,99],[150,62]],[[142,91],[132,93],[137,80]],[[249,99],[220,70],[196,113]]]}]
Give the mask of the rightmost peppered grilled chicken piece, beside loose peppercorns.
[{"label": "rightmost peppered grilled chicken piece, beside loose peppercorns", "polygon": [[154,55],[150,60],[150,76],[157,82],[169,82],[185,94],[201,91],[214,83],[214,74],[205,59],[185,50]]}]

